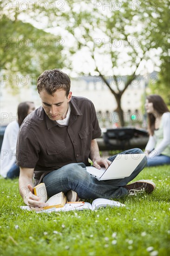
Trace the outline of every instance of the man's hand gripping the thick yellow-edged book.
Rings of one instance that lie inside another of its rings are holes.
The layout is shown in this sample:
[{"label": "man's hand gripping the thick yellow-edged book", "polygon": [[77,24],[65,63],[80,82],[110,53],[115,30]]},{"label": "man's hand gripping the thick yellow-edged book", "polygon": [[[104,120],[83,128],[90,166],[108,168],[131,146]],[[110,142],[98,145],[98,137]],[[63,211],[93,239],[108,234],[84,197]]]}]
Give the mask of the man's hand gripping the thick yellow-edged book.
[{"label": "man's hand gripping the thick yellow-edged book", "polygon": [[[42,210],[42,207],[47,206],[48,204],[45,202],[40,202],[41,197],[33,194],[33,187],[28,184],[29,194],[24,197],[24,202],[29,206],[32,210]],[[35,208],[38,207],[39,209]]]}]

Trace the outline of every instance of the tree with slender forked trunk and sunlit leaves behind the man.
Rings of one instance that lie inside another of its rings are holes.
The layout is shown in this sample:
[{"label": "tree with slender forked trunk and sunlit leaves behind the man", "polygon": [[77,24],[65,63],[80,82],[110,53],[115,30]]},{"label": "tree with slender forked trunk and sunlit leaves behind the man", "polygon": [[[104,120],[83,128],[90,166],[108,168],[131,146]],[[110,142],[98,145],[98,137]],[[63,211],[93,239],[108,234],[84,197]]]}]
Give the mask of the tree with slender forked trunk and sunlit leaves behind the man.
[{"label": "tree with slender forked trunk and sunlit leaves behind the man", "polygon": [[[169,26],[164,23],[169,17],[168,7],[168,0],[68,0],[65,1],[64,12],[50,10],[50,14],[53,12],[56,16],[54,26],[63,27],[74,37],[70,53],[76,55],[83,50],[90,53],[94,68],[87,74],[99,75],[110,89],[117,101],[116,111],[122,126],[122,95],[135,76],[142,70],[144,72],[144,64],[151,61],[157,67],[157,62],[161,60],[164,71],[169,74],[167,58],[164,57],[169,47]],[[48,27],[53,26],[50,17]],[[109,69],[105,68],[105,63],[110,66]],[[123,88],[118,77],[120,66],[125,77]],[[169,83],[169,78],[165,83]]]}]

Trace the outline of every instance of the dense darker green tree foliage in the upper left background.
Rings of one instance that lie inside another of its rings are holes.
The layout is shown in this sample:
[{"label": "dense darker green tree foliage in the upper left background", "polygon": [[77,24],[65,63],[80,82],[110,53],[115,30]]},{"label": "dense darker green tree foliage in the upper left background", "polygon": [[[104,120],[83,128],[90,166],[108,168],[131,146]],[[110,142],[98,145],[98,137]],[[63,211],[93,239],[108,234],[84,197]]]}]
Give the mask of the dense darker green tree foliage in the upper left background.
[{"label": "dense darker green tree foliage in the upper left background", "polygon": [[63,67],[59,37],[23,22],[20,20],[21,12],[13,7],[2,10],[0,15],[1,85],[6,82],[14,92],[19,90],[19,82],[13,82],[17,76],[25,76],[27,84],[35,85],[44,70]]}]

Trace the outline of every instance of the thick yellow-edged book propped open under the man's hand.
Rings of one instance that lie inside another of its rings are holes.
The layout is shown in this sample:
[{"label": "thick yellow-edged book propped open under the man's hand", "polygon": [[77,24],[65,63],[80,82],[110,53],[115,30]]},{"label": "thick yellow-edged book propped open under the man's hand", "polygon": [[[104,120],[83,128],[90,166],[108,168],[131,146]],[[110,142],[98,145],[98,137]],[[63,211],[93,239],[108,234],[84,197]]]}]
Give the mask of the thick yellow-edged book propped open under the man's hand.
[{"label": "thick yellow-edged book propped open under the man's hand", "polygon": [[39,185],[35,186],[33,188],[33,191],[34,191],[34,195],[41,196],[40,202],[48,203],[48,206],[43,207],[43,209],[61,208],[61,207],[64,207],[65,203],[67,202],[67,198],[63,192],[53,195],[47,200],[45,183],[40,183]]}]

